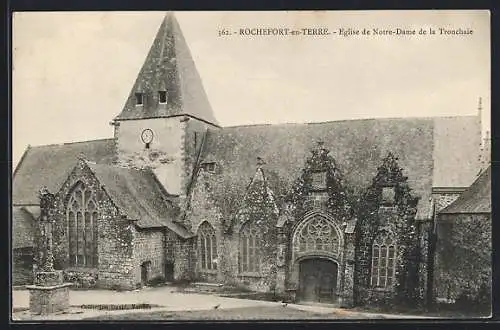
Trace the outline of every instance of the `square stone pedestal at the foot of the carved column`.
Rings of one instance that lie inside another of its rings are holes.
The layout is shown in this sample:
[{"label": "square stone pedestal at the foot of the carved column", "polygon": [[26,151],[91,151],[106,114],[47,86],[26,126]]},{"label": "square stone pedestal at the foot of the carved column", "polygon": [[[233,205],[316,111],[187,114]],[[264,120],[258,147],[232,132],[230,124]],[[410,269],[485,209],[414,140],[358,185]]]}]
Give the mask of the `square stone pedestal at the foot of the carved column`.
[{"label": "square stone pedestal at the foot of the carved column", "polygon": [[30,312],[44,315],[67,310],[72,285],[63,283],[62,271],[36,273],[35,284],[26,286],[30,291]]}]

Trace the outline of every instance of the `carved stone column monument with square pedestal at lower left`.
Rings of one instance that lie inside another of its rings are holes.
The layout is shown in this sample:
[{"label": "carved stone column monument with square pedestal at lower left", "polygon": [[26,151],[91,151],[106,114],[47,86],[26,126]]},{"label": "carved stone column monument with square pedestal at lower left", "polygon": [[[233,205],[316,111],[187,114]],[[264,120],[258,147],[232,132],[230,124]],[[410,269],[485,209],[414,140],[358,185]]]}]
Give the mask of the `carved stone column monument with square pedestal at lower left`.
[{"label": "carved stone column monument with square pedestal at lower left", "polygon": [[69,287],[64,283],[62,270],[54,269],[52,225],[54,222],[54,195],[46,187],[40,189],[40,218],[37,223],[36,261],[33,285],[30,292],[30,312],[50,314],[69,308]]}]

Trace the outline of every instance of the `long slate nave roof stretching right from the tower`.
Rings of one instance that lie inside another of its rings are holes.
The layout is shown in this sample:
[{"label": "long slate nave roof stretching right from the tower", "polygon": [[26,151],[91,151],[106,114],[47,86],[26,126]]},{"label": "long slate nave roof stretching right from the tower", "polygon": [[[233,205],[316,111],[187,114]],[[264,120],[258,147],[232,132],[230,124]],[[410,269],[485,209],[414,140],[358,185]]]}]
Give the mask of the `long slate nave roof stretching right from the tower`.
[{"label": "long slate nave roof stretching right from the tower", "polygon": [[[266,169],[278,173],[289,187],[299,176],[312,148],[321,140],[336,159],[344,175],[344,184],[364,190],[370,185],[382,159],[393,152],[409,178],[410,187],[420,196],[417,218],[428,219],[432,214],[430,197],[436,168],[440,175],[446,176],[444,169],[453,167],[458,172],[457,175],[454,173],[455,177],[477,171],[477,166],[468,161],[474,157],[471,152],[479,149],[474,145],[474,137],[469,136],[474,132],[466,130],[464,133],[460,129],[470,125],[475,118],[366,119],[210,129],[201,161],[216,159],[225,173],[247,177],[255,171],[256,157],[261,157],[266,162]],[[459,128],[450,129],[451,137],[446,135],[446,139],[440,142],[442,148],[438,151],[444,154],[439,155],[434,148],[435,138],[440,137],[434,134],[437,125]],[[463,150],[450,157],[446,153],[457,152],[456,148],[447,149],[444,145],[451,143],[452,138],[454,143],[461,141]],[[441,182],[461,183],[454,178],[444,178]],[[275,190],[275,187],[270,188]]]}]

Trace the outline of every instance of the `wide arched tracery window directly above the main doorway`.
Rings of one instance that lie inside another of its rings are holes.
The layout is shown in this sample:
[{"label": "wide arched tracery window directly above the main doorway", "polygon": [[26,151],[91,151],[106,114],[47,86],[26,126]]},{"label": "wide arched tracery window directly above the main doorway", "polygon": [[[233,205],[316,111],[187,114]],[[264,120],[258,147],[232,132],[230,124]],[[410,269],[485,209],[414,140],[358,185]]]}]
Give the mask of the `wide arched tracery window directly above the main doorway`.
[{"label": "wide arched tracery window directly above the main doorway", "polygon": [[324,217],[316,216],[299,229],[299,252],[306,251],[340,251],[340,240],[333,224]]}]

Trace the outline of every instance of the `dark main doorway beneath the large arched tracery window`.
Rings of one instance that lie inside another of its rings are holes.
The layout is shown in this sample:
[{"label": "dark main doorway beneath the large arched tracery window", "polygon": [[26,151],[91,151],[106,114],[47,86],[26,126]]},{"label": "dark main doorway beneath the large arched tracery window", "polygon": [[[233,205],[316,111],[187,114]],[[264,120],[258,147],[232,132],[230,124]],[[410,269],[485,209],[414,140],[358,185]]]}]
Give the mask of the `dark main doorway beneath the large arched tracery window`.
[{"label": "dark main doorway beneath the large arched tracery window", "polygon": [[298,299],[334,303],[337,297],[338,265],[329,259],[310,258],[299,263]]}]

